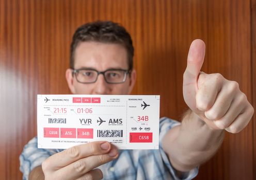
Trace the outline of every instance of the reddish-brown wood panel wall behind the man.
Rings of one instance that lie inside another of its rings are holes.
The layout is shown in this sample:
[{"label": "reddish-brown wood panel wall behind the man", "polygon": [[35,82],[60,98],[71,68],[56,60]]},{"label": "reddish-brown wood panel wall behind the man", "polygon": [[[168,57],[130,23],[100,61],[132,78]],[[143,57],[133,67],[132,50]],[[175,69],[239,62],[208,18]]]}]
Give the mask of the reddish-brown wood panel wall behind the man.
[{"label": "reddish-brown wood panel wall behind the man", "polygon": [[[256,0],[0,0],[0,179],[21,179],[19,155],[36,135],[36,95],[69,94],[65,70],[74,30],[94,20],[131,33],[133,94],[161,95],[161,116],[186,110],[182,76],[191,41],[204,40],[202,70],[235,80],[256,107]],[[256,123],[226,133],[196,179],[256,179]]]}]

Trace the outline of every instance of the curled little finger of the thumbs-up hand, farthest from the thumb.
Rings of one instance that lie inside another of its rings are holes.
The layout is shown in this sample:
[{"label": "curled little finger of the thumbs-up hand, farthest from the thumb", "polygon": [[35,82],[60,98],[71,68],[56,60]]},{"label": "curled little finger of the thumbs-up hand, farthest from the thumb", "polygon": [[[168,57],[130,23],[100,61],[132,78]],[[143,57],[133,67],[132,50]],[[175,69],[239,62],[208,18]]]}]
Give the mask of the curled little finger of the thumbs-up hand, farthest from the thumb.
[{"label": "curled little finger of the thumbs-up hand, farthest from the thumb", "polygon": [[242,131],[251,120],[253,112],[253,107],[249,105],[246,111],[243,114],[238,115],[234,122],[226,128],[226,131],[230,133],[239,133]]}]

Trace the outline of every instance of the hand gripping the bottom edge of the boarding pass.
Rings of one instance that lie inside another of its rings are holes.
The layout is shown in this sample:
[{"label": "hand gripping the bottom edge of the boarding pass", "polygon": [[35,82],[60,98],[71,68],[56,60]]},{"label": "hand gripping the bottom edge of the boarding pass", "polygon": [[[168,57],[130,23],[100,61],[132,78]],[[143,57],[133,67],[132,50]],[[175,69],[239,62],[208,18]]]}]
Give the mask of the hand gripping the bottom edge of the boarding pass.
[{"label": "hand gripping the bottom edge of the boarding pass", "polygon": [[96,141],[74,146],[43,162],[44,179],[102,179],[102,171],[95,168],[116,159],[118,155],[117,148],[109,142]]}]

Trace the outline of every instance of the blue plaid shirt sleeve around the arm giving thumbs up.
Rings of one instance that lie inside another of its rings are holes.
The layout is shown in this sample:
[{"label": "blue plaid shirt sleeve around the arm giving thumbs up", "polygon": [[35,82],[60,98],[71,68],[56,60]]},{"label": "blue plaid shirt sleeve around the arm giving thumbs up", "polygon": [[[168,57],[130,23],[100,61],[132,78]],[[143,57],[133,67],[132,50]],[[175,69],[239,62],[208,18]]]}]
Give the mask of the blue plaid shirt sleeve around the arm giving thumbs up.
[{"label": "blue plaid shirt sleeve around the arm giving thumbs up", "polygon": [[181,176],[178,177],[177,171],[172,167],[169,158],[167,154],[164,152],[163,146],[162,146],[162,140],[165,136],[165,134],[173,127],[181,124],[179,121],[175,121],[172,119],[169,119],[167,117],[163,117],[160,119],[160,124],[159,124],[159,150],[161,152],[162,159],[164,161],[164,164],[167,166],[169,169],[171,175],[175,180],[184,180],[184,179],[192,179],[197,176],[198,174],[198,169],[199,167],[196,167],[195,169],[192,169],[188,172],[185,172],[181,174]]}]

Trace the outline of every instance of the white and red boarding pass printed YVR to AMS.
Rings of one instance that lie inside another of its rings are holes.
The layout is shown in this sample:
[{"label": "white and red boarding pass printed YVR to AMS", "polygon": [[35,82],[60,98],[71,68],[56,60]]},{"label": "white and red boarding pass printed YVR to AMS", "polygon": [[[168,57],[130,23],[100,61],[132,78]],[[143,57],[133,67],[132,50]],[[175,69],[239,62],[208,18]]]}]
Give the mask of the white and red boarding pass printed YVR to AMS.
[{"label": "white and red boarding pass printed YVR to AMS", "polygon": [[159,95],[38,95],[38,148],[106,140],[119,149],[158,149]]}]

